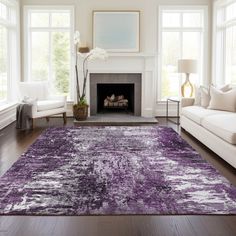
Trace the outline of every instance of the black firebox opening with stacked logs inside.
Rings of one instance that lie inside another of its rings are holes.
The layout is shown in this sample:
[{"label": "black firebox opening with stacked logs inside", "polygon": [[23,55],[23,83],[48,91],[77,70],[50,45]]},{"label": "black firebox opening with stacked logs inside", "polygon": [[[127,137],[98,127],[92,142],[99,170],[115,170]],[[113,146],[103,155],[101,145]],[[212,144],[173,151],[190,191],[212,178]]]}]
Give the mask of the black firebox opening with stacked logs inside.
[{"label": "black firebox opening with stacked logs inside", "polygon": [[97,84],[97,111],[134,113],[134,84]]}]

